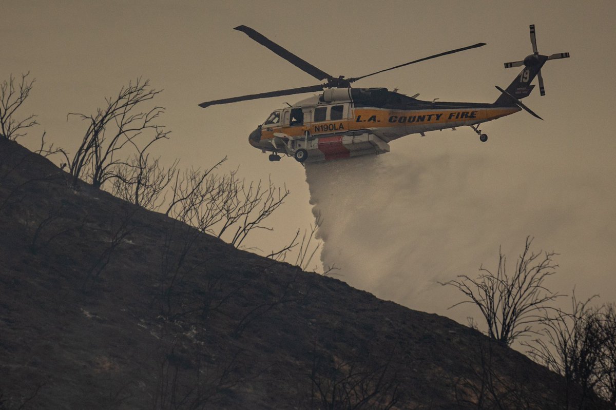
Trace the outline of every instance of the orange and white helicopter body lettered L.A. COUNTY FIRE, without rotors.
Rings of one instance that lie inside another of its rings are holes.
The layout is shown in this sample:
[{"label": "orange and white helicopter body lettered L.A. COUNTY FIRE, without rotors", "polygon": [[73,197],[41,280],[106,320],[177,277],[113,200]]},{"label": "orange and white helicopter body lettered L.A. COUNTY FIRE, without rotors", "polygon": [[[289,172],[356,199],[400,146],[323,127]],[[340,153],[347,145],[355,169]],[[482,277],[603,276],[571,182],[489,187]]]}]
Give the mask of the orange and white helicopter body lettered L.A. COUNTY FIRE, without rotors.
[{"label": "orange and white helicopter body lettered L.A. COUNTY FIRE, without rotors", "polygon": [[275,110],[249,142],[261,150],[275,151],[272,140],[277,135],[293,139],[306,132],[315,139],[372,134],[391,142],[405,135],[484,123],[517,111],[517,106],[492,103],[417,100],[383,88],[327,89],[293,107]]}]

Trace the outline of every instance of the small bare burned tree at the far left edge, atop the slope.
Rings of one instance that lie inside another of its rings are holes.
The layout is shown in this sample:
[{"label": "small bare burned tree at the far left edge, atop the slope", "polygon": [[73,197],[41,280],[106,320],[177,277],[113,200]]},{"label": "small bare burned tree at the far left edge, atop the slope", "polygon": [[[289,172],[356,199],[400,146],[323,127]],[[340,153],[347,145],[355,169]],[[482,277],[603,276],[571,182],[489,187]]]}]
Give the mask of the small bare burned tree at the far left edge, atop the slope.
[{"label": "small bare burned tree at the far left edge, atop the slope", "polygon": [[30,72],[22,74],[22,81],[16,81],[13,74],[9,80],[0,84],[0,138],[16,140],[26,135],[26,129],[38,124],[36,116],[31,114],[23,119],[15,118],[15,113],[22,107],[30,95],[34,79],[28,79]]}]

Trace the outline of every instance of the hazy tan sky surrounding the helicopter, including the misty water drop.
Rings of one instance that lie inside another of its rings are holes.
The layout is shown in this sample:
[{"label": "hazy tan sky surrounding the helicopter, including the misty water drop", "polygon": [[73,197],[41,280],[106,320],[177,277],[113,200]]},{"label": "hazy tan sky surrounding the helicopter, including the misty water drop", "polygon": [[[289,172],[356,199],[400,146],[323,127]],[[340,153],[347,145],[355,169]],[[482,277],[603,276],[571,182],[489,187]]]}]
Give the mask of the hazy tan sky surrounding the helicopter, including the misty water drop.
[{"label": "hazy tan sky surrounding the helicopter, including the misty water drop", "polygon": [[[45,130],[49,142],[73,151],[84,124],[67,113],[92,113],[131,79],[149,78],[164,89],[160,122],[172,133],[158,153],[169,163],[207,167],[228,155],[246,178],[271,175],[291,190],[272,220],[275,232],[251,244],[267,249],[313,223],[312,205],[304,168],[292,159],[269,163],[248,134],[275,108],[307,95],[197,104],[315,81],[233,27],[250,26],[345,76],[487,42],[354,85],[493,102],[494,86],[517,74],[503,63],[532,51],[534,23],[540,52],[572,56],[546,63],[547,95],[535,90],[524,100],[545,121],[522,111],[484,124],[487,143],[470,128],[413,135],[365,167],[330,164],[315,174],[315,192],[334,196],[323,205],[326,257],[336,262],[338,252],[341,279],[465,322],[466,313],[445,310],[455,294],[434,282],[493,265],[499,244],[513,260],[527,235],[537,250],[561,254],[554,290],[577,285],[580,298],[616,301],[615,15],[613,1],[2,0],[0,80],[26,71],[36,78],[22,114],[38,115],[41,126],[20,142],[34,148]],[[338,199],[344,206],[332,206]]]}]

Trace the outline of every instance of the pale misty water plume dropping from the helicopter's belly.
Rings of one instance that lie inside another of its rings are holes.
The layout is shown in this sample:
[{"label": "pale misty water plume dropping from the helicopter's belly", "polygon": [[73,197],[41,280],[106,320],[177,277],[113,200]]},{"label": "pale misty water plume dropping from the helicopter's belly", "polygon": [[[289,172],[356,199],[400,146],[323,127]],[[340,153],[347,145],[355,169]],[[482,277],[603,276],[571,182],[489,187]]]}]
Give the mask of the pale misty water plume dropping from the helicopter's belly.
[{"label": "pale misty water plume dropping from the helicopter's belly", "polygon": [[[591,204],[563,193],[562,182],[581,181],[494,151],[404,145],[376,158],[306,166],[312,212],[322,219],[323,266],[335,265],[340,279],[377,297],[462,323],[479,312],[470,304],[447,310],[463,295],[438,282],[476,275],[481,264],[495,268],[500,245],[515,263],[527,235],[537,238],[535,251],[564,254],[551,289],[581,284],[589,266],[580,255],[601,253],[585,242],[593,235]],[[601,276],[586,276],[583,286],[602,290]]]}]

